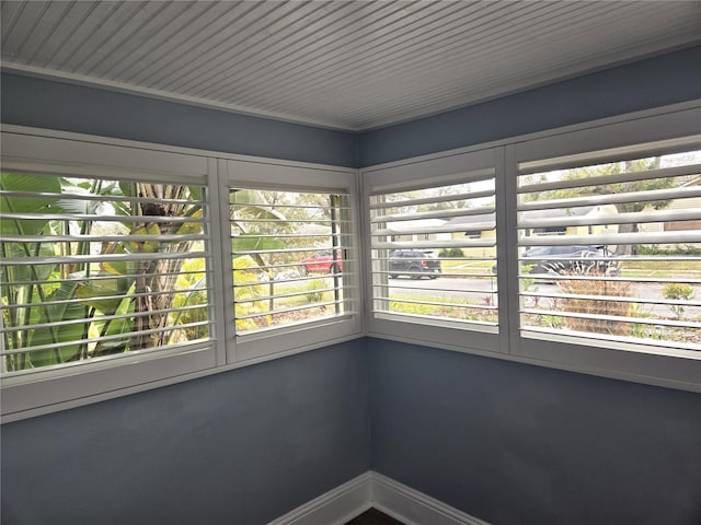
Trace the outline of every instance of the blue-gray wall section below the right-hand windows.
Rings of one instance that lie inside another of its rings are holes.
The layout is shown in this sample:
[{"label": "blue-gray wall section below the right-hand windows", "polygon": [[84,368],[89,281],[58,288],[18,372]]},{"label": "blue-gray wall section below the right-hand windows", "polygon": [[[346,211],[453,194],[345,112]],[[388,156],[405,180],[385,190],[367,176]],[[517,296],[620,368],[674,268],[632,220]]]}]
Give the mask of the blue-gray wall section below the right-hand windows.
[{"label": "blue-gray wall section below the right-hand windows", "polygon": [[701,396],[368,340],[372,468],[495,525],[698,525]]}]

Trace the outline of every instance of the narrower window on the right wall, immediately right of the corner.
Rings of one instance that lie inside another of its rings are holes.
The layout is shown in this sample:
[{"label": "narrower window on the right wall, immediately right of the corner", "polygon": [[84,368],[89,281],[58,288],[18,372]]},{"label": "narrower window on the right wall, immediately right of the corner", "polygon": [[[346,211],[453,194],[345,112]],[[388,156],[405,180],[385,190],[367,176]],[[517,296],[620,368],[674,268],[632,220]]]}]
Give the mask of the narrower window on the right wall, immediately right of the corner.
[{"label": "narrower window on the right wall, immediately right of the corner", "polygon": [[422,325],[417,338],[437,328],[456,337],[469,329],[478,332],[475,340],[496,348],[494,152],[371,175],[371,328],[407,334]]}]

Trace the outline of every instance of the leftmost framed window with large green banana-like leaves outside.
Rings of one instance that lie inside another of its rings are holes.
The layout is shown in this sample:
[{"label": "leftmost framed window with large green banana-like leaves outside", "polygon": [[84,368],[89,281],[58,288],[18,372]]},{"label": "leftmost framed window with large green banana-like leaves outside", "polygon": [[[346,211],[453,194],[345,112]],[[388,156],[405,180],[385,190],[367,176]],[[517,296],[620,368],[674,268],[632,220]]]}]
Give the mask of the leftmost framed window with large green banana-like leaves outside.
[{"label": "leftmost framed window with large green banana-like leaves outside", "polygon": [[212,165],[5,128],[3,420],[182,381],[223,362]]}]

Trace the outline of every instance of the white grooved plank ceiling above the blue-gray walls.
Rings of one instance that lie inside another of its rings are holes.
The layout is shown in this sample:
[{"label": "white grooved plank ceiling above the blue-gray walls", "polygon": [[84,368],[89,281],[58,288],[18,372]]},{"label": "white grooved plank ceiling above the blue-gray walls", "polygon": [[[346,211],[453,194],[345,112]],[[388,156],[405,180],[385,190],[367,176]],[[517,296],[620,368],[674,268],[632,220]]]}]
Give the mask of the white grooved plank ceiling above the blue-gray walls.
[{"label": "white grooved plank ceiling above the blue-gray walls", "polygon": [[700,1],[2,1],[2,68],[365,130],[701,42]]}]

